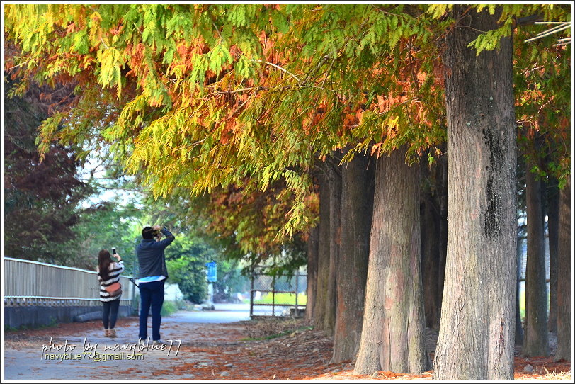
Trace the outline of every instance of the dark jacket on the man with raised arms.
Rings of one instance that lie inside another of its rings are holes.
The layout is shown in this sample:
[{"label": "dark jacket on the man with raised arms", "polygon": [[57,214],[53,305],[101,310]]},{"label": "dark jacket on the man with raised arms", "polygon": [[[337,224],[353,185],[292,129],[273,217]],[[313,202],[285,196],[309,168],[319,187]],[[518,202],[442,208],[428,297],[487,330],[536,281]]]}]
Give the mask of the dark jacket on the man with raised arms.
[{"label": "dark jacket on the man with raised arms", "polygon": [[136,256],[140,264],[138,278],[164,275],[168,278],[164,249],[173,242],[173,235],[166,228],[160,230],[165,239],[156,242],[156,239],[142,239],[136,247]]}]

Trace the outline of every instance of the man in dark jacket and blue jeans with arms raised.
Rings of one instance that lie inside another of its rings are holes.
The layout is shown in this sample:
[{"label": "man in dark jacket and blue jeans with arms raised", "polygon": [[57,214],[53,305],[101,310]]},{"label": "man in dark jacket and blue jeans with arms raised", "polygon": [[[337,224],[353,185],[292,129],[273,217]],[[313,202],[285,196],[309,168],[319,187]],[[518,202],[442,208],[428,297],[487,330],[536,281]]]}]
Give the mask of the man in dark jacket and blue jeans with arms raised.
[{"label": "man in dark jacket and blue jeans with arms raised", "polygon": [[[166,239],[160,240],[161,235]],[[157,238],[157,239],[156,239]],[[142,242],[136,247],[136,256],[140,264],[138,283],[140,283],[140,340],[148,337],[148,312],[152,307],[152,340],[161,343],[160,324],[161,306],[164,305],[164,282],[168,278],[164,249],[173,242],[173,235],[165,227],[154,225],[142,230]]]}]

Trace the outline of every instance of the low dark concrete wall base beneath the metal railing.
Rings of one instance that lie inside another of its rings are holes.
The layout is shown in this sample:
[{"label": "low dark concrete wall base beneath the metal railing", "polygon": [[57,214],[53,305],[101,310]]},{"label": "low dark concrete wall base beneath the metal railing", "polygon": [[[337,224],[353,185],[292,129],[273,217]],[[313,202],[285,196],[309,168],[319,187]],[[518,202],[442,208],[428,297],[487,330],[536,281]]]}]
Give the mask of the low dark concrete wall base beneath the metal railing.
[{"label": "low dark concrete wall base beneath the metal railing", "polygon": [[[130,305],[120,305],[118,317],[132,315]],[[4,328],[42,327],[60,322],[98,320],[102,317],[102,307],[4,307]]]}]

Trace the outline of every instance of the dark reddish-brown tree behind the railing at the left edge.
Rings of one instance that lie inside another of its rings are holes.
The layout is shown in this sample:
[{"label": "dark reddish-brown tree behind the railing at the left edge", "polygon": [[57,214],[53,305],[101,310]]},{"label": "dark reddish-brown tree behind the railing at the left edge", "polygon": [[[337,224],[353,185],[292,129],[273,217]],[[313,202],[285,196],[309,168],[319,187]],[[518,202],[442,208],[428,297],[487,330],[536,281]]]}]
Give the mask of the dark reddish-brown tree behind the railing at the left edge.
[{"label": "dark reddish-brown tree behind the railing at the left edge", "polygon": [[[6,92],[11,88],[6,84]],[[6,256],[57,264],[73,263],[59,245],[74,238],[76,205],[91,187],[79,178],[76,149],[50,145],[45,159],[35,147],[36,129],[68,87],[30,85],[21,97],[4,94],[4,244]]]}]

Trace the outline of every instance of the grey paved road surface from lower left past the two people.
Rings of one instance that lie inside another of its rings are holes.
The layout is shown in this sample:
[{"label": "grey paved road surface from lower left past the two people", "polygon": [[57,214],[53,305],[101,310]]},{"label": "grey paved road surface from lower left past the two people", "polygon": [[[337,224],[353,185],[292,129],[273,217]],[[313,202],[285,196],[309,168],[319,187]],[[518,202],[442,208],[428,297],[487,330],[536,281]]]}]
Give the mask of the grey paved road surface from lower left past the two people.
[{"label": "grey paved road surface from lower left past the two people", "polygon": [[[265,308],[262,308],[262,310]],[[258,315],[258,312],[256,312]],[[241,329],[241,324],[232,325],[234,322],[249,320],[249,304],[215,304],[215,310],[207,311],[181,311],[171,316],[162,318],[162,339],[164,341],[181,339],[183,343],[193,342],[195,344],[210,344],[217,339],[224,342],[234,341],[237,334],[229,334],[230,330]],[[151,320],[149,320],[150,322]],[[224,323],[229,324],[230,327]],[[220,325],[222,324],[222,325]],[[186,362],[198,364],[210,364],[210,356],[182,348],[177,356],[166,354],[166,351],[144,350],[139,355],[142,360],[130,360],[125,352],[106,352],[106,346],[111,347],[115,343],[123,346],[132,346],[137,342],[137,320],[132,320],[130,324],[118,327],[118,338],[108,339],[102,335],[101,328],[96,322],[94,329],[86,332],[71,332],[67,324],[59,324],[55,331],[54,344],[56,347],[64,343],[74,345],[74,350],[67,351],[68,357],[72,357],[75,352],[81,352],[88,344],[97,345],[96,351],[102,354],[114,354],[118,360],[98,361],[91,356],[82,355],[79,360],[62,359],[64,349],[42,351],[42,346],[49,345],[49,337],[34,337],[33,339],[22,339],[4,344],[4,379],[5,380],[106,380],[106,379],[151,379],[151,372],[159,369],[171,369],[173,366]],[[220,341],[221,342],[221,341]],[[7,347],[6,347],[7,346]],[[47,359],[51,355],[56,360]],[[181,375],[162,375],[163,379],[190,379]]]}]

